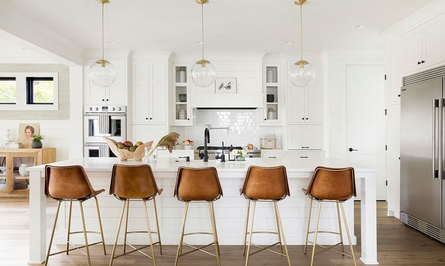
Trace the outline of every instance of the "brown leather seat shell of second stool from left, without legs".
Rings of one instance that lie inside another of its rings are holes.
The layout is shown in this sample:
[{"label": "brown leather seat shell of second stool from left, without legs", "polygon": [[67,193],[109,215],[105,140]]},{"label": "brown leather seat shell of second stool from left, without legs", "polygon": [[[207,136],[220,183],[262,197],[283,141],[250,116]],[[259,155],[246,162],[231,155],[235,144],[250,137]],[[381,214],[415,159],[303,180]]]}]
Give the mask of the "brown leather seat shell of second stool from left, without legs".
[{"label": "brown leather seat shell of second stool from left, without legs", "polygon": [[154,180],[149,165],[121,165],[113,166],[109,194],[120,200],[140,198],[150,200],[158,193],[158,186]]}]

